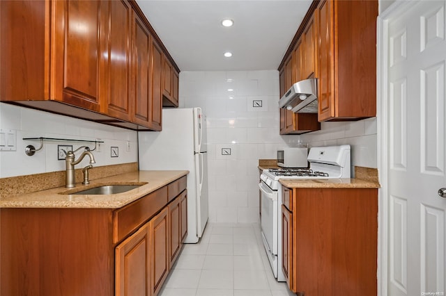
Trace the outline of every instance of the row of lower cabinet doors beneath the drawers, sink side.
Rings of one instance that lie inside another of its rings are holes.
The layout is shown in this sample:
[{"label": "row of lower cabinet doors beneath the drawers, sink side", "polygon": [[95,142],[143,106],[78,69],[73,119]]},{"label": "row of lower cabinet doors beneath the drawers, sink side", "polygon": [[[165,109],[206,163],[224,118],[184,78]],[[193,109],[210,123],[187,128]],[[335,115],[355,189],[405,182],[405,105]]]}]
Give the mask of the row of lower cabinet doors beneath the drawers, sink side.
[{"label": "row of lower cabinet doors beneath the drawers, sink side", "polygon": [[116,247],[117,296],[160,292],[182,247],[180,215],[187,213],[181,201],[185,201],[186,192],[183,190],[150,222]]}]

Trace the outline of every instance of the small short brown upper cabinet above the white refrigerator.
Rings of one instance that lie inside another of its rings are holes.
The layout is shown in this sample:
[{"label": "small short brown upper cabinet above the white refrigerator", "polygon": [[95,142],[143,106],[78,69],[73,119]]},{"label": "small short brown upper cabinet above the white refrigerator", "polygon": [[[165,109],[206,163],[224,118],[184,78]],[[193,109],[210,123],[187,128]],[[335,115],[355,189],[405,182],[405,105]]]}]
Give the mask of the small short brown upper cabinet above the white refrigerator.
[{"label": "small short brown upper cabinet above the white refrigerator", "polygon": [[162,106],[178,107],[178,72],[169,59],[163,56]]}]

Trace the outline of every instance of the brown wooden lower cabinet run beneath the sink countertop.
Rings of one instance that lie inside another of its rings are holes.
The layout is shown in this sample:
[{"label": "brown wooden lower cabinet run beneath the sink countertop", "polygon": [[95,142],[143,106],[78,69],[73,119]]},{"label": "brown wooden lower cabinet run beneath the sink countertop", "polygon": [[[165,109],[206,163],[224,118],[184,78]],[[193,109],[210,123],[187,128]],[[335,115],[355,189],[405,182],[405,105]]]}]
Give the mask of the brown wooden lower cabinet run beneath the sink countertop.
[{"label": "brown wooden lower cabinet run beneath the sink countertop", "polygon": [[157,295],[187,233],[185,188],[118,209],[1,208],[0,295]]}]

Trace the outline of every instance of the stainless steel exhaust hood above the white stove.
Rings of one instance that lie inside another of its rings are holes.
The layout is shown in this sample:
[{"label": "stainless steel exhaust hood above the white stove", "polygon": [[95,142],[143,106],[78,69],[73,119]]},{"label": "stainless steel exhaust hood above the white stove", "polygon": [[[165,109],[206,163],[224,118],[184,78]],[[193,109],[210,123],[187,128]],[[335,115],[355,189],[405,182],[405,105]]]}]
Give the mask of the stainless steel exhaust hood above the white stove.
[{"label": "stainless steel exhaust hood above the white stove", "polygon": [[318,113],[317,94],[316,78],[302,80],[294,83],[279,99],[279,106],[294,113]]}]

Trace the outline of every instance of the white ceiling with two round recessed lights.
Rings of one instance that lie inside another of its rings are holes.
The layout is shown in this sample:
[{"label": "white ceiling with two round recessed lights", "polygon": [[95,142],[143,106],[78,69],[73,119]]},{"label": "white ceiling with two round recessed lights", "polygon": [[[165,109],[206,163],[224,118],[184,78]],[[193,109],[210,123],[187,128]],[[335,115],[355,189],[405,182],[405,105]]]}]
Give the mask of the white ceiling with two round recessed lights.
[{"label": "white ceiling with two round recessed lights", "polygon": [[181,71],[230,71],[277,69],[312,0],[137,3]]}]

